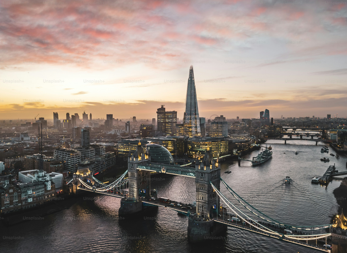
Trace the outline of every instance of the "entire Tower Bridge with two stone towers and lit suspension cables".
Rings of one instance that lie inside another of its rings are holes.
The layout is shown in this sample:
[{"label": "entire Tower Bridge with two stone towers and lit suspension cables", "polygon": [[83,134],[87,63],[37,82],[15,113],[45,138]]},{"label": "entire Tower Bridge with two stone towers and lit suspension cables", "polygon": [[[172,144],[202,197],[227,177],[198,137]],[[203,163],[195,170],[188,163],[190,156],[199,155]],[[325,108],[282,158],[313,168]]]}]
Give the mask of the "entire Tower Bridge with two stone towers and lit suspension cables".
[{"label": "entire Tower Bridge with two stone towers and lit suspension cables", "polygon": [[[151,172],[195,178],[196,206],[177,201],[162,201],[151,190]],[[331,233],[324,233],[332,224],[293,226],[274,220],[246,202],[220,177],[219,159],[208,149],[202,159],[196,159],[195,168],[151,162],[151,156],[138,144],[128,155],[128,170],[117,180],[104,184],[84,169],[74,174],[75,192],[88,191],[120,198],[120,217],[132,217],[144,210],[163,207],[188,217],[188,241],[206,241],[226,231],[227,226],[247,230],[273,239],[330,252],[327,244]],[[220,183],[232,197],[221,193]],[[236,202],[235,202],[236,201]],[[222,203],[222,205],[220,204]],[[236,206],[237,204],[237,206]]]}]

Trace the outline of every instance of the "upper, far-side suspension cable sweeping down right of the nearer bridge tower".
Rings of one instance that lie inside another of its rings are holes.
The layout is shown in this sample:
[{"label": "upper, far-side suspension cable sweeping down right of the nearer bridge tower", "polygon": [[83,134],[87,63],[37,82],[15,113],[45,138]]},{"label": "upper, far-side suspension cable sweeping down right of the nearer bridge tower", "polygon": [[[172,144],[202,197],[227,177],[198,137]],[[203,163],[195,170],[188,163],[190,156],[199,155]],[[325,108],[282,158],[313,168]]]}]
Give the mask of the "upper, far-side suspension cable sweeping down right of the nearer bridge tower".
[{"label": "upper, far-side suspension cable sweeping down right of the nearer bridge tower", "polygon": [[[257,217],[263,219],[263,220],[266,220],[268,222],[271,222],[273,224],[276,224],[276,225],[280,225],[280,226],[286,226],[287,228],[291,227],[291,228],[295,228],[295,229],[301,229],[301,230],[319,230],[319,229],[325,229],[325,228],[330,228],[332,226],[332,224],[328,224],[328,225],[315,225],[315,226],[291,226],[291,225],[286,225],[286,224],[282,224],[280,221],[277,221],[269,216],[267,216],[266,214],[262,213],[261,211],[259,211],[258,209],[256,209],[254,206],[252,206],[251,204],[249,204],[247,201],[245,201],[240,195],[238,195],[233,189],[231,189],[231,187],[229,185],[227,185],[227,183],[222,179],[220,178],[222,183],[225,185],[225,187],[228,189],[228,191],[232,194],[232,196],[235,197],[235,199],[240,203],[242,204],[246,209],[248,209],[250,212],[252,212],[253,214],[255,214]],[[242,203],[239,199],[237,199],[237,197],[235,196],[237,195],[242,201],[244,201],[248,206],[250,206],[252,209],[256,210],[257,212],[261,213],[263,216],[267,217],[268,219],[266,218],[263,218],[261,217],[259,214],[253,212],[251,209],[249,209],[247,206],[245,206],[244,203]],[[271,221],[272,220],[272,221]],[[274,221],[274,222],[273,222]]]}]

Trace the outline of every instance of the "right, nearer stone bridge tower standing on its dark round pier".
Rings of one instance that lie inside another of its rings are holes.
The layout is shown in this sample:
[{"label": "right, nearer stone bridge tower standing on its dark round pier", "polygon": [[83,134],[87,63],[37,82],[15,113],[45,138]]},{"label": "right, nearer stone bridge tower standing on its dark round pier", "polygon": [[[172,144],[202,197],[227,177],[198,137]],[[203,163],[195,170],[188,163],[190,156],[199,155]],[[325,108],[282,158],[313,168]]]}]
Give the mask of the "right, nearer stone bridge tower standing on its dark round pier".
[{"label": "right, nearer stone bridge tower standing on its dark round pier", "polygon": [[208,147],[204,158],[195,164],[196,214],[189,215],[188,241],[197,243],[213,239],[226,229],[226,225],[214,222],[219,212],[220,202],[210,182],[220,189],[220,167],[218,158]]}]

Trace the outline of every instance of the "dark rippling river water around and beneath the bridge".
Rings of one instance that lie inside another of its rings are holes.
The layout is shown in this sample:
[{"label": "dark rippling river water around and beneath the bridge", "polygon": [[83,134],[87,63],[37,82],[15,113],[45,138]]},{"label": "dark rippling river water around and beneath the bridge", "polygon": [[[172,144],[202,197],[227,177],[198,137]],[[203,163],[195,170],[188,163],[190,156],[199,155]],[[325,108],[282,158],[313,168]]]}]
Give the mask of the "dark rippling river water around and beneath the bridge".
[{"label": "dark rippling river water around and beneath the bridge", "polygon": [[[273,152],[269,161],[258,167],[252,167],[247,161],[242,161],[240,167],[237,161],[225,162],[221,164],[221,177],[257,209],[285,224],[329,224],[338,209],[332,192],[340,182],[334,180],[328,187],[322,187],[311,184],[311,179],[322,176],[334,163],[339,171],[345,170],[346,158],[341,155],[338,160],[322,154],[323,144],[315,146],[311,141],[288,140],[284,145],[284,141],[273,140],[267,145],[272,146]],[[257,153],[259,151],[254,151],[243,158],[251,159]],[[324,156],[330,162],[321,162]],[[231,173],[225,174],[226,170]],[[283,184],[286,176],[294,180],[291,185]],[[174,176],[151,184],[158,190],[158,196],[184,203],[195,201],[193,178]],[[221,192],[232,199],[222,184]],[[42,220],[1,226],[1,253],[316,252],[230,227],[222,240],[194,245],[187,241],[187,217],[159,208],[153,217],[119,220],[119,206],[120,199],[111,196],[81,197],[71,208]]]}]

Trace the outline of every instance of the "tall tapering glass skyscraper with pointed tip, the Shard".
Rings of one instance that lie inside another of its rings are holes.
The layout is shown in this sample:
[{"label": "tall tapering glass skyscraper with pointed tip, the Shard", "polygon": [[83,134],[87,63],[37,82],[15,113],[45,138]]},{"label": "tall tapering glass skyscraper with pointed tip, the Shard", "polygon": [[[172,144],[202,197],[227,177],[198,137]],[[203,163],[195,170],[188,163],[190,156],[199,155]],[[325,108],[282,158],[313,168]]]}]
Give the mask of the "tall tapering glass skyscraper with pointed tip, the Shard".
[{"label": "tall tapering glass skyscraper with pointed tip, the Shard", "polygon": [[188,136],[201,135],[199,110],[197,107],[196,89],[193,66],[189,68],[189,78],[186,96],[186,111],[183,116],[183,125]]}]

